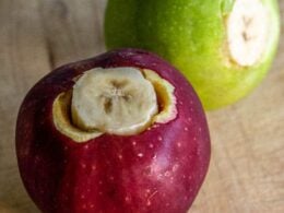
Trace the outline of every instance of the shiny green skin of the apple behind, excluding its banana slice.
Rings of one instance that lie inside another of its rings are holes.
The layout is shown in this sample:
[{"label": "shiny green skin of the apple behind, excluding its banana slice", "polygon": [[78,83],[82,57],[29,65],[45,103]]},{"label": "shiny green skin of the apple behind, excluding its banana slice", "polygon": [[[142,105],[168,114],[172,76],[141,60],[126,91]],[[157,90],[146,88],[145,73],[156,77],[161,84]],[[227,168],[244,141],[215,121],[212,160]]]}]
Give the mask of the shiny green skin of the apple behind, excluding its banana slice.
[{"label": "shiny green skin of the apple behind, excluding its banana slice", "polygon": [[237,102],[265,76],[276,52],[280,13],[276,0],[262,0],[270,35],[261,59],[241,67],[230,59],[226,17],[234,0],[109,0],[105,14],[108,49],[154,51],[191,82],[206,110]]}]

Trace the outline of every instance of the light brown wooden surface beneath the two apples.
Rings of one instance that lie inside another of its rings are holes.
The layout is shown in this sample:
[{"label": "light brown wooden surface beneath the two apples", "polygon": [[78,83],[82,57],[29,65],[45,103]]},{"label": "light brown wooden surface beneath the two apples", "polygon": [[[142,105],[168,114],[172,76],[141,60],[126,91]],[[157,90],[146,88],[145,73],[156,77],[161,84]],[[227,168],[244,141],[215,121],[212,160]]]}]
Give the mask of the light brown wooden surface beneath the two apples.
[{"label": "light brown wooden surface beneath the two apples", "polygon": [[[104,51],[104,7],[105,0],[0,0],[0,213],[38,212],[16,167],[19,106],[55,67]],[[284,35],[264,82],[208,119],[210,171],[190,212],[283,213]]]}]

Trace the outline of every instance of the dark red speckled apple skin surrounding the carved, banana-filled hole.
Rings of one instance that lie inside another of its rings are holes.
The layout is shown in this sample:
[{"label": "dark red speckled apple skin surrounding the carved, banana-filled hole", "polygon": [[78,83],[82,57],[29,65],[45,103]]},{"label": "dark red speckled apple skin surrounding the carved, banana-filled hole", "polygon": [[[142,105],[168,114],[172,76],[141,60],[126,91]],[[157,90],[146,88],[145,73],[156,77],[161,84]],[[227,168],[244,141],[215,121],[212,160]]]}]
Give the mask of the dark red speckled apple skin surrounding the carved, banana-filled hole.
[{"label": "dark red speckled apple skin surrounding the carved, banana-filled hole", "polygon": [[[56,129],[52,103],[95,67],[156,71],[175,86],[177,117],[138,135],[73,142]],[[210,134],[196,92],[175,68],[153,54],[119,49],[56,69],[28,92],[17,117],[16,154],[43,212],[185,213],[208,170]]]}]

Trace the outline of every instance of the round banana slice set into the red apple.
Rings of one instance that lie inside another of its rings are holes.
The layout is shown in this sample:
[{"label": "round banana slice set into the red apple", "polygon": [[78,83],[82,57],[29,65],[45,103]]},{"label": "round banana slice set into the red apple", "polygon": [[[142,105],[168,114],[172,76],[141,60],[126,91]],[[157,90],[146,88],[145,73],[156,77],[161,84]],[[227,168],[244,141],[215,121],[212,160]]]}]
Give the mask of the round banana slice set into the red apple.
[{"label": "round banana slice set into the red apple", "polygon": [[73,86],[72,121],[86,131],[135,134],[157,113],[155,90],[139,69],[95,68]]}]

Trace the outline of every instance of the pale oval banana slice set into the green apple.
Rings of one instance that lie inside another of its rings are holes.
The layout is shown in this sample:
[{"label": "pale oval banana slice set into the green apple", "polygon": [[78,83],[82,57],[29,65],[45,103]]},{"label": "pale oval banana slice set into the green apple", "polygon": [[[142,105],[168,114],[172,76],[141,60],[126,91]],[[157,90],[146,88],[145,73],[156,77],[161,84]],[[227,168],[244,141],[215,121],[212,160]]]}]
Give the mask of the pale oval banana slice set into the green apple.
[{"label": "pale oval banana slice set into the green apple", "polygon": [[269,11],[261,0],[236,0],[227,20],[230,56],[239,66],[253,66],[265,51]]}]

